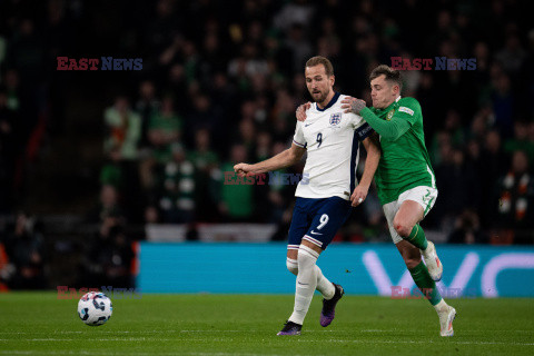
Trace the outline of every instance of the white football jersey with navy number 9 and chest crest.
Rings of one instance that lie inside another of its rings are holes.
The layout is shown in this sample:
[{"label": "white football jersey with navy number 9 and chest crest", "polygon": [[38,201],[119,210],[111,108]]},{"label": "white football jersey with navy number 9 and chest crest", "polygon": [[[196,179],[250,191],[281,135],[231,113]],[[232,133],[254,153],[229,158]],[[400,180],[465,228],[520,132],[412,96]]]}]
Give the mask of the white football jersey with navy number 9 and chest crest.
[{"label": "white football jersey with navy number 9 and chest crest", "polygon": [[336,92],[325,109],[313,103],[306,121],[297,121],[293,142],[306,148],[303,179],[295,191],[301,198],[350,198],[357,185],[359,141],[373,132],[360,116],[345,113]]}]

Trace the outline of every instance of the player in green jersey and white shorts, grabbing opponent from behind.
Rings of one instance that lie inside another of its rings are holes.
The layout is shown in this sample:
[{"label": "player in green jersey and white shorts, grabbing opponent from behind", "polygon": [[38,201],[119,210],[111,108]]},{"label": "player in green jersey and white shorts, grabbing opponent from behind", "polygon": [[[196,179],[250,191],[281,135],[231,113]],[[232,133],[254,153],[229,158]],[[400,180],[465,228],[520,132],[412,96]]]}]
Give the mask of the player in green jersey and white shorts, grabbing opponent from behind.
[{"label": "player in green jersey and white shorts, grabbing opponent from behind", "polygon": [[[447,305],[436,288],[443,265],[434,244],[427,241],[419,221],[437,197],[436,181],[425,147],[423,115],[414,98],[402,98],[402,78],[397,70],[378,66],[369,76],[373,107],[347,97],[345,112],[362,116],[379,135],[382,158],[375,174],[378,198],[389,226],[392,239],[415,284],[427,296],[439,317],[441,335],[453,336],[456,310]],[[297,118],[305,119],[303,105]],[[422,260],[425,258],[425,264]]]}]

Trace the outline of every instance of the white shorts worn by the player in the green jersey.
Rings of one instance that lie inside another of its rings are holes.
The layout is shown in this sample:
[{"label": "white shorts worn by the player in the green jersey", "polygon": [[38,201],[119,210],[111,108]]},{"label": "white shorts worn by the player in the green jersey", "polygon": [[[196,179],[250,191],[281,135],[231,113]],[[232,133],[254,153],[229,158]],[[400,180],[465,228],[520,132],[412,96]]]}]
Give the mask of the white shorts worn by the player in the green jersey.
[{"label": "white shorts worn by the player in the green jersey", "polygon": [[384,215],[387,219],[387,226],[389,227],[389,234],[392,235],[392,239],[394,244],[398,244],[403,240],[403,238],[397,234],[395,227],[393,226],[393,219],[395,219],[395,215],[397,214],[398,209],[406,200],[413,200],[418,202],[424,210],[423,217],[425,217],[428,211],[431,211],[432,207],[436,202],[437,198],[437,189],[431,187],[415,187],[412,189],[406,190],[402,195],[398,196],[398,199],[383,206]]}]

